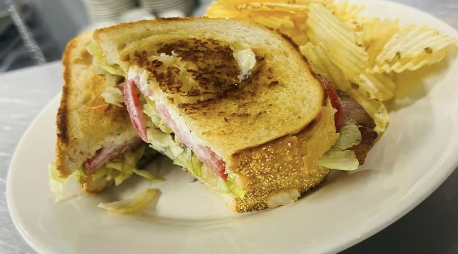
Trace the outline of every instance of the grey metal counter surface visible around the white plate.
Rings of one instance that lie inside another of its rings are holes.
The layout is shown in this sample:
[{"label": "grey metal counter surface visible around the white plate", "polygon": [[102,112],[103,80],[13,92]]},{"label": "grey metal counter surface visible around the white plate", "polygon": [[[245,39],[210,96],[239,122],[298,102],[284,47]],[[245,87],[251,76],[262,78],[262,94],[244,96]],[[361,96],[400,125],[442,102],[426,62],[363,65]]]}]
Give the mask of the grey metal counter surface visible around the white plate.
[{"label": "grey metal counter surface visible around the white plate", "polygon": [[[399,0],[458,29],[457,0]],[[26,128],[61,90],[61,63],[0,76],[0,254],[35,253],[14,228],[6,203],[6,175]],[[24,158],[27,160],[27,158]],[[393,225],[343,253],[458,253],[458,171]],[[26,186],[24,186],[26,187]]]}]

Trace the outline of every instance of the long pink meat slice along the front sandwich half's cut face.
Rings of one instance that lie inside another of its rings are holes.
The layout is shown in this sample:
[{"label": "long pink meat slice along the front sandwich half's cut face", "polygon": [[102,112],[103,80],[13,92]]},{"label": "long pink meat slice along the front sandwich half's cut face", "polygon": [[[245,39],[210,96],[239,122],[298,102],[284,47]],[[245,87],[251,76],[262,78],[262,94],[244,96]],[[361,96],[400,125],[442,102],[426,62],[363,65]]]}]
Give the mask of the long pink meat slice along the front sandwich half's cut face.
[{"label": "long pink meat slice along the front sandwich half's cut face", "polygon": [[198,145],[197,142],[189,135],[189,133],[182,132],[177,123],[170,117],[168,110],[165,106],[156,104],[156,109],[159,115],[167,123],[170,129],[177,135],[178,139],[189,149],[191,149],[197,158],[201,160],[205,166],[211,169],[216,175],[219,175],[224,181],[227,181],[227,174],[225,174],[226,167],[221,157],[219,157],[212,149],[207,146]]}]

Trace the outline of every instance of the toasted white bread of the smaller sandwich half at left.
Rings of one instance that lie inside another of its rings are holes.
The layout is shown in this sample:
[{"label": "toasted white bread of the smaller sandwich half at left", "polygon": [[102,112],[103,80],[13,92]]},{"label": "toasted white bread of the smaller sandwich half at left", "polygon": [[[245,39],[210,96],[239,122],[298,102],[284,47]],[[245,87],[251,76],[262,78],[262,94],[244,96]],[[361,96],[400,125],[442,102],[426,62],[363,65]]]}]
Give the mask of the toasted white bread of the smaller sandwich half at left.
[{"label": "toasted white bread of the smaller sandwich half at left", "polygon": [[[125,108],[109,105],[106,109],[92,107],[106,104],[100,94],[107,84],[103,75],[92,71],[92,56],[87,46],[92,33],[70,41],[63,55],[64,87],[58,111],[56,168],[61,177],[68,177],[102,147],[120,145],[137,137]],[[103,177],[102,177],[103,178]],[[82,188],[91,194],[100,192],[108,181],[92,181],[83,176]]]}]

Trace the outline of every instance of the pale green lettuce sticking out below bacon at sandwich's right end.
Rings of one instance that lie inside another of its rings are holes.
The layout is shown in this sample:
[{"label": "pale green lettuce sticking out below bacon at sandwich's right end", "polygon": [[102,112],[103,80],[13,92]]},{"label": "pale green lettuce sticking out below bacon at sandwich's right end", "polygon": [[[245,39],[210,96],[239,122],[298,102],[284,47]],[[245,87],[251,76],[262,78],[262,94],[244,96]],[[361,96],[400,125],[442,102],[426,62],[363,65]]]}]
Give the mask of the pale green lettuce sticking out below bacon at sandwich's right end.
[{"label": "pale green lettuce sticking out below bacon at sandwich's right end", "polygon": [[335,144],[323,154],[318,165],[329,169],[337,170],[357,170],[359,162],[355,152],[346,150],[361,142],[361,133],[355,124],[345,125],[340,129],[340,137]]}]

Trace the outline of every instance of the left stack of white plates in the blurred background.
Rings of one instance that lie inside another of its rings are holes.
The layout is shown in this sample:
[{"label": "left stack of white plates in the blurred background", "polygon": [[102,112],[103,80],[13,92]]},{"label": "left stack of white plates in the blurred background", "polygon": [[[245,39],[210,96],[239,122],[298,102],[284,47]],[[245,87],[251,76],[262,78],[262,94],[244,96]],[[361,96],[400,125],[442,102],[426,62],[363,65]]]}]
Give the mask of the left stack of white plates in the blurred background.
[{"label": "left stack of white plates in the blurred background", "polygon": [[93,22],[117,20],[135,6],[135,0],[84,0],[83,3]]}]

